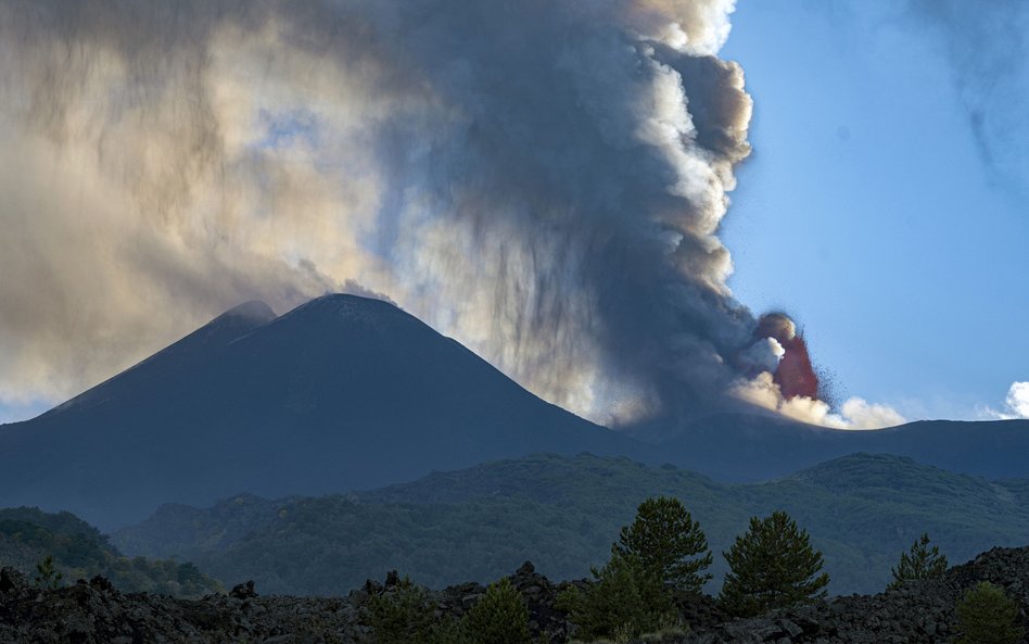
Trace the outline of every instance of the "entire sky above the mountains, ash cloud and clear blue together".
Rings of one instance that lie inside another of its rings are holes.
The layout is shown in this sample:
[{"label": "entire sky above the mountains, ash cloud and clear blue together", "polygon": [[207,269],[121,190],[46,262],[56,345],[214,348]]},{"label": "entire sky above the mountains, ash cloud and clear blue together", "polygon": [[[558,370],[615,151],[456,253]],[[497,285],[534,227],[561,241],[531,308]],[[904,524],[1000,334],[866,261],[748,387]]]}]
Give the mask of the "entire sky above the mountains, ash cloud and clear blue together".
[{"label": "entire sky above the mountains, ash cloud and clear blue together", "polygon": [[[338,3],[342,25],[405,35],[364,50],[329,28],[339,16],[276,0],[238,24],[203,3],[178,28],[160,9],[119,25],[103,2],[56,29],[29,21],[0,68],[17,88],[0,138],[20,150],[0,167],[0,422],[245,299],[282,313],[343,289],[384,293],[600,421],[712,388],[789,411],[754,375],[783,345],[742,351],[776,311],[842,409],[817,421],[1029,415],[1029,11],[630,4],[569,3],[551,24],[422,0],[411,27]],[[68,25],[81,60],[62,53]],[[657,49],[611,48],[626,28]]]}]

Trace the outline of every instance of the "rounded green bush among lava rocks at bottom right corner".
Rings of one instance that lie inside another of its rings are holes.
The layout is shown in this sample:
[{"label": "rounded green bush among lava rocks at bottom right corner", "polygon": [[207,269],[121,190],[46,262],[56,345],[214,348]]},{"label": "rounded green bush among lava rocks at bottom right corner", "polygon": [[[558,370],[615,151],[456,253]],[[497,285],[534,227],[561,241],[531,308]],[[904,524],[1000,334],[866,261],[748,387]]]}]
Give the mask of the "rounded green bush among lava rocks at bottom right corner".
[{"label": "rounded green bush among lava rocks at bottom right corner", "polygon": [[1004,589],[980,581],[957,601],[957,644],[1016,644],[1018,606]]}]

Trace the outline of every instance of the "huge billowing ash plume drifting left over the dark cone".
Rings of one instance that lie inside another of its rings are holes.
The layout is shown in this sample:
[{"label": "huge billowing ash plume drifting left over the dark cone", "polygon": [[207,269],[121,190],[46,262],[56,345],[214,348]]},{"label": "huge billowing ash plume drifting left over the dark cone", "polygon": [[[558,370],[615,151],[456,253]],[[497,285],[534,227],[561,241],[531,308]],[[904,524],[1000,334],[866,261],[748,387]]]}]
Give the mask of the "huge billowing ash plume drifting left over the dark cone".
[{"label": "huge billowing ash plume drifting left over the dark cone", "polygon": [[793,350],[725,286],[732,10],[0,0],[0,399],[369,289],[601,421],[734,404]]}]

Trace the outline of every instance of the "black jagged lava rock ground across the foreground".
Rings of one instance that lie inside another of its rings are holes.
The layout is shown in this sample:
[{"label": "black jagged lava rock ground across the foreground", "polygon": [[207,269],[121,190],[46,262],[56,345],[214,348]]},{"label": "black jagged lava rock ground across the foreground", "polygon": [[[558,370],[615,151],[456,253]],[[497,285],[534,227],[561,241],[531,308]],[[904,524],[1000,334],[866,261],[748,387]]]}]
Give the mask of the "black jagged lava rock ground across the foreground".
[{"label": "black jagged lava rock ground across the foreground", "polygon": [[[531,628],[543,641],[568,641],[573,627],[555,608],[559,590],[531,565],[512,576],[530,607]],[[749,620],[726,621],[707,597],[682,606],[690,632],[669,635],[665,644],[938,643],[954,634],[954,605],[964,589],[990,581],[1006,590],[1026,622],[1029,610],[1029,547],[994,548],[951,568],[939,581],[911,583],[877,595],[835,597],[812,606]],[[367,582],[345,597],[261,596],[253,584],[201,599],[145,593],[122,594],[103,578],[69,588],[34,588],[11,568],[0,571],[0,642],[130,644],[160,642],[246,642],[255,644],[373,644],[365,623],[371,596],[391,592]],[[581,583],[581,582],[580,582]],[[460,615],[484,589],[475,583],[436,593],[444,614]]]}]

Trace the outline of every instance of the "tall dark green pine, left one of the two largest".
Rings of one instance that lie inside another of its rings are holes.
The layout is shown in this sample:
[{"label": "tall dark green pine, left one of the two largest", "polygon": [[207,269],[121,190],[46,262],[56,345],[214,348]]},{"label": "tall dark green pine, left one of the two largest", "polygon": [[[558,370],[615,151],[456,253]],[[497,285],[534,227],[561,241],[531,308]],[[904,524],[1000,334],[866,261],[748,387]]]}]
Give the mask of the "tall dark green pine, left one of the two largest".
[{"label": "tall dark green pine, left one of the two largest", "polygon": [[636,519],[622,528],[613,550],[635,557],[650,574],[678,591],[700,594],[711,579],[704,572],[711,566],[708,539],[678,498],[658,496],[640,503]]}]

